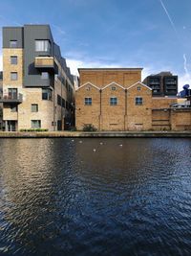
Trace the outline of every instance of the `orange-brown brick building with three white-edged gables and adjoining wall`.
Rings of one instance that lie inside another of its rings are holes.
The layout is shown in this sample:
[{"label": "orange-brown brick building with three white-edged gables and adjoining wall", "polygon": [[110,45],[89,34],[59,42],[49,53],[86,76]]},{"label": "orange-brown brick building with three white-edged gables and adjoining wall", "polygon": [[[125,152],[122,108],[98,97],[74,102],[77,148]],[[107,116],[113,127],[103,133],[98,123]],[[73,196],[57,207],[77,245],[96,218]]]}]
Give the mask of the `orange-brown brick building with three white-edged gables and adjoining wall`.
[{"label": "orange-brown brick building with three white-edged gables and adjoining wall", "polygon": [[[140,82],[142,68],[80,68],[75,92],[75,126],[82,130],[184,130],[191,129],[187,99],[153,97],[152,88]],[[176,107],[175,107],[176,106]]]}]

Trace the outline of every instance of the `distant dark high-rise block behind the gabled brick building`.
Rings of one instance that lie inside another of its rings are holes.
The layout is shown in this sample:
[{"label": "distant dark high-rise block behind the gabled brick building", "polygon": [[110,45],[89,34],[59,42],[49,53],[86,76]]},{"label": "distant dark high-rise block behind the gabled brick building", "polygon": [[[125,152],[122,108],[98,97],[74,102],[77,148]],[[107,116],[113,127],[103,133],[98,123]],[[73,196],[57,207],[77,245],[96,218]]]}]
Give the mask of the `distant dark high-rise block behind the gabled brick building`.
[{"label": "distant dark high-rise block behind the gabled brick building", "polygon": [[178,76],[171,72],[160,72],[144,79],[143,83],[152,88],[153,96],[176,96],[178,94]]}]

